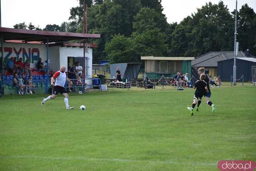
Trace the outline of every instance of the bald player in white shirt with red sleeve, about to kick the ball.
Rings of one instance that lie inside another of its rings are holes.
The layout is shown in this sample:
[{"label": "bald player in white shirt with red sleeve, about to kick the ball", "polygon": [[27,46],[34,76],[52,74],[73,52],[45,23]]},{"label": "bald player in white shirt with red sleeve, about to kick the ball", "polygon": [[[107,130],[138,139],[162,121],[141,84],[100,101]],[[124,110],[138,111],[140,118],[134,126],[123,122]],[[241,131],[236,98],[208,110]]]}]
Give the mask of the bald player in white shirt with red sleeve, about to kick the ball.
[{"label": "bald player in white shirt with red sleeve, about to kick the ball", "polygon": [[[68,93],[66,93],[66,89],[64,88],[66,80],[70,82],[70,80],[66,77],[66,67],[62,66],[60,68],[60,71],[55,72],[55,74],[52,77],[51,85],[53,86],[53,94],[49,95],[46,99],[43,99],[41,102],[42,105],[50,99],[54,99],[58,93],[61,93],[64,95],[64,102],[66,104],[66,109],[73,109],[74,107],[71,107],[68,105]],[[55,79],[55,84],[54,83]]]}]

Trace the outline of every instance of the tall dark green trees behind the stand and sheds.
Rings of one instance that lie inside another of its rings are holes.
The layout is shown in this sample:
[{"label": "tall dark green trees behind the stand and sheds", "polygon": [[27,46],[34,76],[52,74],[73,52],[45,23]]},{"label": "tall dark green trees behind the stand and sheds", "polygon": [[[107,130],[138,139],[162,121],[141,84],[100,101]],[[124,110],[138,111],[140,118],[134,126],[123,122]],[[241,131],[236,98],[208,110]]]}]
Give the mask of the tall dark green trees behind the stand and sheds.
[{"label": "tall dark green trees behind the stand and sheds", "polygon": [[[83,1],[70,9],[68,22],[48,24],[43,30],[83,32]],[[93,62],[140,62],[140,56],[192,56],[234,50],[235,12],[223,1],[206,3],[180,23],[168,23],[161,0],[86,0],[88,33],[101,34]],[[182,10],[182,9],[181,9]],[[256,13],[244,4],[237,13],[239,50],[256,55]],[[39,30],[32,23],[14,28]]]}]

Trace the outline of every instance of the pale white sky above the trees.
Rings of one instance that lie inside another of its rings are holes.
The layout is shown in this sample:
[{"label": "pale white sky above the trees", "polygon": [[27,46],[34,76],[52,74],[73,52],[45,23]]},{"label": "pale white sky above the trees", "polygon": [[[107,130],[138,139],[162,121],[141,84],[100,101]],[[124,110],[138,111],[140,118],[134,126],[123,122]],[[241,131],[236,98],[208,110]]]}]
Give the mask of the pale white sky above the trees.
[{"label": "pale white sky above the trees", "polygon": [[[77,0],[0,0],[2,27],[13,28],[17,23],[32,22],[34,26],[45,28],[47,24],[60,24],[68,21],[70,8],[78,6]],[[219,0],[162,0],[167,22],[181,22],[196,12],[206,2],[217,4]],[[235,0],[223,0],[230,11],[236,8]],[[243,4],[256,11],[256,0],[238,0],[238,10]]]}]

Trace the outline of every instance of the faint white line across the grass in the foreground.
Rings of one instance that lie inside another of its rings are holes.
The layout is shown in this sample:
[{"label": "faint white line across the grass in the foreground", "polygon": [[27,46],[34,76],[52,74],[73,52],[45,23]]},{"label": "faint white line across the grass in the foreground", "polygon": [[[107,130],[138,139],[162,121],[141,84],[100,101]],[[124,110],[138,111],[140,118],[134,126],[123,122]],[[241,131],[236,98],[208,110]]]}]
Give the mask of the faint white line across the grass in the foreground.
[{"label": "faint white line across the grass in the foreground", "polygon": [[18,155],[18,156],[0,156],[0,158],[9,159],[46,159],[46,160],[86,160],[86,161],[118,161],[118,162],[146,162],[150,164],[173,164],[173,165],[202,165],[202,166],[217,166],[217,163],[202,163],[202,162],[176,162],[176,161],[152,161],[152,160],[131,160],[131,159],[110,159],[110,158],[88,158],[88,157],[42,157],[35,155]]}]

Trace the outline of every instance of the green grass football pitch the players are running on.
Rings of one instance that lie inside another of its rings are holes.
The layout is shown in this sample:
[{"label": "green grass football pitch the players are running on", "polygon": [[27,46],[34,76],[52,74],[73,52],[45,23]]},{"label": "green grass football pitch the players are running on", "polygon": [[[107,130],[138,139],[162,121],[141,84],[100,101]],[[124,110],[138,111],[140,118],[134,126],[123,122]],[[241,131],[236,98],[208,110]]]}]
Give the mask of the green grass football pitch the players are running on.
[{"label": "green grass football pitch the players are running on", "polygon": [[[0,170],[218,171],[256,160],[256,87],[213,88],[194,116],[193,89],[110,89],[47,101],[0,98]],[[81,111],[80,105],[86,105]]]}]

